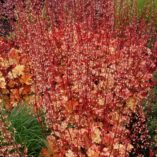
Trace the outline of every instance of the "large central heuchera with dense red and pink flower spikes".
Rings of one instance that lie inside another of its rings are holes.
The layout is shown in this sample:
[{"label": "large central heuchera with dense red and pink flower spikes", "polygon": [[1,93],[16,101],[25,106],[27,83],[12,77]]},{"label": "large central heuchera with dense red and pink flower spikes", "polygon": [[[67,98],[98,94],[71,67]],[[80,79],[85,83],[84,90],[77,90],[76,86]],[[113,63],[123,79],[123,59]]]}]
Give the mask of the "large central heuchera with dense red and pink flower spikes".
[{"label": "large central heuchera with dense red and pink flower spikes", "polygon": [[114,29],[110,0],[30,4],[18,3],[14,30],[34,69],[35,108],[46,112],[53,154],[129,156],[126,125],[156,67],[145,22]]}]

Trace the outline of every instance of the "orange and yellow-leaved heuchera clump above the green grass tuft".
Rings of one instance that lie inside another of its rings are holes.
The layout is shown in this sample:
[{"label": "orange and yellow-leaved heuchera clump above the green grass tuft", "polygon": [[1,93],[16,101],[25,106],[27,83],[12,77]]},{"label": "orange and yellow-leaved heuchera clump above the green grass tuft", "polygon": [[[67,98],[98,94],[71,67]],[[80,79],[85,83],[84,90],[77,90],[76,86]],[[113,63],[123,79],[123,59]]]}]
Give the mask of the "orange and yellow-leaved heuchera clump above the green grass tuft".
[{"label": "orange and yellow-leaved heuchera clump above the green grass tuft", "polygon": [[[28,58],[12,48],[0,55],[0,101],[11,110],[20,102],[33,103],[33,82]],[[31,102],[32,101],[32,102]]]}]

